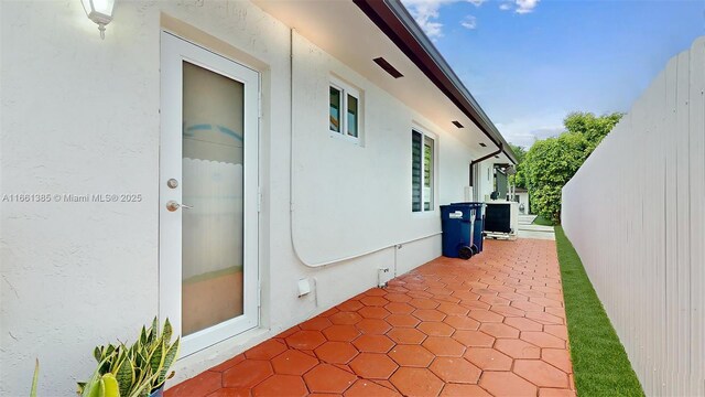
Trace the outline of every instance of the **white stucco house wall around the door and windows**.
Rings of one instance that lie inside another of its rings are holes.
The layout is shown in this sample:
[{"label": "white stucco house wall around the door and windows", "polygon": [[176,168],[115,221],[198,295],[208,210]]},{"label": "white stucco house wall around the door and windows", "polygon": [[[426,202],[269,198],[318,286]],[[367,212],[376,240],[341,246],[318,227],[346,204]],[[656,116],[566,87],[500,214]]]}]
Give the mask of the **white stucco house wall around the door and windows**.
[{"label": "white stucco house wall around the door and windows", "polygon": [[[142,201],[2,203],[0,395],[26,394],[35,357],[40,394],[69,395],[95,366],[95,345],[131,340],[158,313],[164,15],[243,54],[237,61],[258,68],[263,87],[262,328],[181,360],[177,380],[375,286],[380,267],[402,273],[441,253],[437,235],[405,244],[440,232],[437,211],[411,213],[411,126],[436,135],[436,206],[463,200],[469,150],[294,35],[299,254],[316,262],[391,246],[325,268],[297,258],[290,233],[290,30],[257,7],[120,1],[101,41],[78,0],[2,1],[0,192],[135,193]],[[328,136],[332,73],[364,92],[364,147]],[[302,277],[315,288],[299,299]]]}]

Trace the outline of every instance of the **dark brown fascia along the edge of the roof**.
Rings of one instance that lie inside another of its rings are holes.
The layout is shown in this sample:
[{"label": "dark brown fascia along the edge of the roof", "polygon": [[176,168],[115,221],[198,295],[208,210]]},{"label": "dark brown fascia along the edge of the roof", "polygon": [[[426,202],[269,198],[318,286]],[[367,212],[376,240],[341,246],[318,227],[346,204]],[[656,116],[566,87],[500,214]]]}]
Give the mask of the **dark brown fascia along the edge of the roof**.
[{"label": "dark brown fascia along the edge of the roof", "polygon": [[352,0],[511,162],[517,157],[470,92],[399,0]]}]

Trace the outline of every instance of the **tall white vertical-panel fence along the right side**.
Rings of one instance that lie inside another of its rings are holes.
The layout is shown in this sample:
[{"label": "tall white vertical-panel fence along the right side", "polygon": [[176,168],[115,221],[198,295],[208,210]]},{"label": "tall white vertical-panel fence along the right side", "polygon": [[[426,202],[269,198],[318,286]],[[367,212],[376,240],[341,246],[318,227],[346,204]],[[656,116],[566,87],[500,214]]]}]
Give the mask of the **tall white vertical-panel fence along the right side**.
[{"label": "tall white vertical-panel fence along the right side", "polygon": [[649,396],[705,396],[705,37],[563,187],[563,227]]}]

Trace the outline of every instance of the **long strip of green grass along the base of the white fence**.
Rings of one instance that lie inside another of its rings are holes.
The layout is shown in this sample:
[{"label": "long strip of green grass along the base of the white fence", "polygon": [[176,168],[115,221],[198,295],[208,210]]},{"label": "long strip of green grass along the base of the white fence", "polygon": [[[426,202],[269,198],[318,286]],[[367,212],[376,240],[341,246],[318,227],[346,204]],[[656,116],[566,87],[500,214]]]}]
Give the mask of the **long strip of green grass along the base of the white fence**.
[{"label": "long strip of green grass along the base of the white fence", "polygon": [[575,387],[581,397],[643,396],[637,374],[597,298],[581,258],[555,227]]}]

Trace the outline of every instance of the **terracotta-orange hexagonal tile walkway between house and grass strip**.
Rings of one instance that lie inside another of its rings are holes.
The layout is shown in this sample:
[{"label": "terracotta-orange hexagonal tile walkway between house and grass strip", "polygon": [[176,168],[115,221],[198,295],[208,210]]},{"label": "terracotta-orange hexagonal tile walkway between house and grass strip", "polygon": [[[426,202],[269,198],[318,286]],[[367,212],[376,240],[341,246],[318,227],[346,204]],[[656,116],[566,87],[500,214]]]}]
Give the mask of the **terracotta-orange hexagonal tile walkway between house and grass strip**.
[{"label": "terracotta-orange hexagonal tile walkway between house and grass strip", "polygon": [[166,391],[575,396],[555,242],[438,258]]}]

